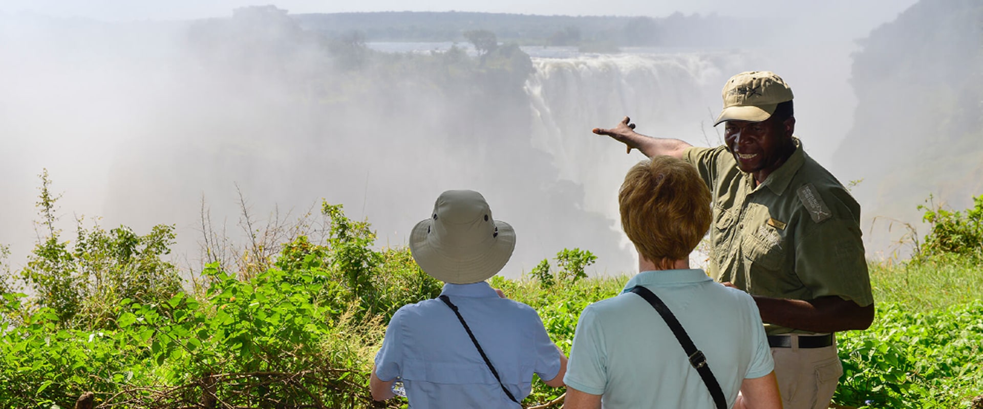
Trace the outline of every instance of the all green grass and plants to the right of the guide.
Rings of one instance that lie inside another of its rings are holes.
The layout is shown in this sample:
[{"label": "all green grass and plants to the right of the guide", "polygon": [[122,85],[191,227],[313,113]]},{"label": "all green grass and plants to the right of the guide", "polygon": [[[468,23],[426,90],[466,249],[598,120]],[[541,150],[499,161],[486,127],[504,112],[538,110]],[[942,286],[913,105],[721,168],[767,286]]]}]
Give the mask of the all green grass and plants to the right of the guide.
[{"label": "all green grass and plants to the right of the guide", "polygon": [[931,231],[907,263],[870,266],[877,318],[838,335],[835,401],[955,408],[983,394],[983,196],[965,213],[918,206]]}]

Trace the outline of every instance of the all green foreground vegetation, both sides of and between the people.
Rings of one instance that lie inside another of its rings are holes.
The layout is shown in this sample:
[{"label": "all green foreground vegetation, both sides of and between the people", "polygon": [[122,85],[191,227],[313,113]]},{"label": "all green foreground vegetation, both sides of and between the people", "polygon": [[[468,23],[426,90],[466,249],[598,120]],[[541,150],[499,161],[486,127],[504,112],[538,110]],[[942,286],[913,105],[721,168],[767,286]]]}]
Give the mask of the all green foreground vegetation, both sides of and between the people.
[{"label": "all green foreground vegetation, both sides of and between the people", "polygon": [[[320,208],[323,238],[297,235],[263,263],[262,253],[245,249],[243,257],[266,267],[230,272],[216,260],[194,288],[175,286],[173,266],[161,260],[170,230],[142,236],[80,223],[75,242],[62,241],[50,184],[42,174],[38,226],[46,235],[27,267],[12,273],[0,246],[0,407],[67,408],[89,391],[101,408],[381,407],[368,379],[385,323],[440,291],[407,249],[376,249],[368,222],[328,203]],[[925,242],[964,235],[961,228],[979,223],[976,203],[946,217],[925,209],[936,228]],[[867,331],[838,335],[838,405],[964,408],[983,391],[983,288],[974,284],[983,267],[978,253],[952,248],[926,246],[914,261],[871,266],[878,316]],[[564,249],[557,274],[544,260],[535,280],[491,283],[539,311],[569,352],[583,309],[627,281],[585,278],[595,260]],[[558,407],[562,392],[534,382],[524,405]]]}]

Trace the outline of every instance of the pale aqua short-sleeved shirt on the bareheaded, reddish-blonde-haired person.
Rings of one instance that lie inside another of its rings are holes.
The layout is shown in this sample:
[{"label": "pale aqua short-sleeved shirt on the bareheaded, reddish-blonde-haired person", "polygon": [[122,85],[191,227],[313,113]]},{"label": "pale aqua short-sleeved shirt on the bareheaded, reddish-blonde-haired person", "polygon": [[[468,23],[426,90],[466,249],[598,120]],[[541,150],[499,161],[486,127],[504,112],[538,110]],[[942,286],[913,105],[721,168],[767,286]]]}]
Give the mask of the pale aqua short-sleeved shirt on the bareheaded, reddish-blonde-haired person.
[{"label": "pale aqua short-sleeved shirt on the bareheaded, reddish-blonde-haired person", "polygon": [[617,296],[580,315],[563,381],[602,395],[605,409],[712,408],[713,397],[652,305],[627,292],[652,290],[707,357],[733,406],[744,379],[775,367],[754,299],[714,282],[702,270],[642,272]]}]

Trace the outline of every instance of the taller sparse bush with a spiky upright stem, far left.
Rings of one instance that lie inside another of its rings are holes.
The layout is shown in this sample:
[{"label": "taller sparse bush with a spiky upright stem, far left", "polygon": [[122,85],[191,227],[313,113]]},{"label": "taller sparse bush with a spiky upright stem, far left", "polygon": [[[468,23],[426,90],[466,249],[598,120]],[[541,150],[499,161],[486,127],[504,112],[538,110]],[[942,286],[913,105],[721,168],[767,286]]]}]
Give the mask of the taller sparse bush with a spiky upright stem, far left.
[{"label": "taller sparse bush with a spiky upright stem, far left", "polygon": [[33,304],[50,308],[62,327],[107,328],[122,299],[140,302],[167,299],[181,289],[177,267],[161,257],[174,244],[174,227],[157,225],[146,235],[125,226],[91,230],[77,221],[74,245],[61,241],[56,230],[56,202],[47,171],[40,175],[39,237],[20,277],[36,297]]}]

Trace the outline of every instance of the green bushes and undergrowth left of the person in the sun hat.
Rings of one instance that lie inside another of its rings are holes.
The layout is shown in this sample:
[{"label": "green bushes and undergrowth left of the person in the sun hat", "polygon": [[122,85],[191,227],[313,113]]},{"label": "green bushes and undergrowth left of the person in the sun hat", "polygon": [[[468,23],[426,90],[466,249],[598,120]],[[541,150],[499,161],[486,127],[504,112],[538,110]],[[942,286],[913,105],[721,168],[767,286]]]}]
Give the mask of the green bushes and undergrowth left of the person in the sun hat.
[{"label": "green bushes and undergrowth left of the person in the sun hat", "polygon": [[51,235],[21,272],[33,295],[2,294],[0,407],[72,407],[87,391],[98,407],[370,406],[382,324],[440,290],[406,249],[373,249],[368,223],[324,203],[322,242],[298,236],[250,274],[210,263],[187,291],[159,258],[170,230],[80,227],[72,246],[41,180]]}]

